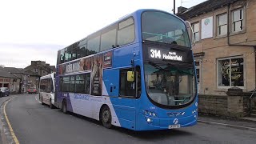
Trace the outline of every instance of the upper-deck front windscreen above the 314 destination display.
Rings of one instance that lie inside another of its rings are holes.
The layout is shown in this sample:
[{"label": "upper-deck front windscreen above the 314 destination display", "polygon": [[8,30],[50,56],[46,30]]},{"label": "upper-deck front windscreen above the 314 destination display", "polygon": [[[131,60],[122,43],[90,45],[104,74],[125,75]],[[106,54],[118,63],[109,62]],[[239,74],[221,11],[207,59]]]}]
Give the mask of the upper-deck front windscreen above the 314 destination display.
[{"label": "upper-deck front windscreen above the 314 destination display", "polygon": [[160,11],[142,13],[142,40],[190,47],[184,22]]}]

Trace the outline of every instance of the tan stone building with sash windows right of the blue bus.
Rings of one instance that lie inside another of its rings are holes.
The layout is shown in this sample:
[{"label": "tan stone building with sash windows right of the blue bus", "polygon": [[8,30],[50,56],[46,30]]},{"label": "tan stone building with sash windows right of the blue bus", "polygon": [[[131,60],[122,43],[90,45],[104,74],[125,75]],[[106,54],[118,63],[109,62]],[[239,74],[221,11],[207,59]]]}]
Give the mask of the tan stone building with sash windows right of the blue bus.
[{"label": "tan stone building with sash windows right of the blue bus", "polygon": [[[215,97],[209,111],[228,102],[226,92],[231,87],[243,92],[255,89],[255,0],[208,0],[188,9],[179,7],[178,16],[194,30],[199,101],[214,96],[221,101]],[[214,110],[214,114],[223,111]]]}]

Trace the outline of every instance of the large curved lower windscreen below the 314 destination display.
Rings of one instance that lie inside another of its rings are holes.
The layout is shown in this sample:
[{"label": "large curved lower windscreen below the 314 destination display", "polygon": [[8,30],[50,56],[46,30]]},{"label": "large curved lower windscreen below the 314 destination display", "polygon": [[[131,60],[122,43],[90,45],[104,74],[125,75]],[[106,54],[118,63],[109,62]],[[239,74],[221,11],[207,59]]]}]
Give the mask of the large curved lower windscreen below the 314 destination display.
[{"label": "large curved lower windscreen below the 314 destination display", "polygon": [[149,98],[164,106],[181,106],[195,96],[194,68],[145,64],[145,82]]}]

